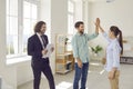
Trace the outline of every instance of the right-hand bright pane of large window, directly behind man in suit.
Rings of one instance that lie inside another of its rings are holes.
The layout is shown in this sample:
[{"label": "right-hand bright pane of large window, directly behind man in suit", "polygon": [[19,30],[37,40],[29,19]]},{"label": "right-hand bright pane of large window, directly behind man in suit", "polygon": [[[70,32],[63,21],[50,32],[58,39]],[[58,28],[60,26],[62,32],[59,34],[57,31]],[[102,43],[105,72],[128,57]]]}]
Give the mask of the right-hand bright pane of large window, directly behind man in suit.
[{"label": "right-hand bright pane of large window, directly behind man in suit", "polygon": [[34,3],[23,1],[23,40],[22,52],[27,53],[27,40],[33,34],[33,27],[37,22],[38,7]]}]

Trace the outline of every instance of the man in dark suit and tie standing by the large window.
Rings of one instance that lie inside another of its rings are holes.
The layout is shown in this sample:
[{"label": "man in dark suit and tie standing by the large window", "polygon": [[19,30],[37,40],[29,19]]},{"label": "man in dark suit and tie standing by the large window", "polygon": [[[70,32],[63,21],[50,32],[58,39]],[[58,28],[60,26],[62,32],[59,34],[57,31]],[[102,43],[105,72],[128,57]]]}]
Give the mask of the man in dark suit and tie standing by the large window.
[{"label": "man in dark suit and tie standing by the large window", "polygon": [[[43,55],[48,52],[45,47],[49,43],[48,37],[44,34],[45,30],[45,22],[39,21],[34,27],[34,34],[28,39],[28,55],[32,56],[33,89],[39,89],[41,72],[47,77],[50,89],[55,89],[49,58],[42,58]],[[53,51],[53,49],[54,48],[52,48],[51,51]]]}]

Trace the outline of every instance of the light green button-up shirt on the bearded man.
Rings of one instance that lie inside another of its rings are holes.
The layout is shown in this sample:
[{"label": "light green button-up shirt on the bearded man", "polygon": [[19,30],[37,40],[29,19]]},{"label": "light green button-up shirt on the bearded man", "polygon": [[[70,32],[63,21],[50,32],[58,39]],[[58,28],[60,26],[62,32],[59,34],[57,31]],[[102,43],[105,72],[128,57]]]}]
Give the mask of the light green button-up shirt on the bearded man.
[{"label": "light green button-up shirt on the bearded man", "polygon": [[98,37],[98,33],[89,36],[88,33],[80,34],[79,32],[72,38],[73,56],[80,58],[83,63],[89,62],[89,44],[88,42]]}]

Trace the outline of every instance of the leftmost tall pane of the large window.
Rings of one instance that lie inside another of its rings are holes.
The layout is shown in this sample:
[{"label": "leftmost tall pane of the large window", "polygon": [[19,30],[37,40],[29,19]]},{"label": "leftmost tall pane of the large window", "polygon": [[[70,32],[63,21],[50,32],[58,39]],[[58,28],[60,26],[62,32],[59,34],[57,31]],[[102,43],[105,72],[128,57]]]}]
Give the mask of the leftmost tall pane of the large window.
[{"label": "leftmost tall pane of the large window", "polygon": [[7,55],[18,51],[18,0],[7,0]]}]

